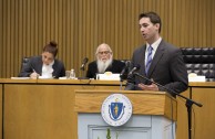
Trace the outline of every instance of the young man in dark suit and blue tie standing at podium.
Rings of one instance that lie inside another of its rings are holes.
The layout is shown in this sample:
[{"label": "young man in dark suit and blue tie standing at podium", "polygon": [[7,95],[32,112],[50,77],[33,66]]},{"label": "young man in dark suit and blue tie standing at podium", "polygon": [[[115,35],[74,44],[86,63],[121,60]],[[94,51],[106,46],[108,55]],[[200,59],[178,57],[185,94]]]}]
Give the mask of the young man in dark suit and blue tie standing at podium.
[{"label": "young man in dark suit and blue tie standing at podium", "polygon": [[[155,12],[141,13],[139,25],[146,44],[133,53],[132,65],[141,65],[139,73],[163,85],[168,90],[182,93],[187,89],[187,71],[181,50],[161,36],[162,22]],[[130,76],[125,89],[164,90],[161,86],[139,76]],[[172,94],[173,95],[173,94]],[[173,95],[175,96],[175,95]]]}]

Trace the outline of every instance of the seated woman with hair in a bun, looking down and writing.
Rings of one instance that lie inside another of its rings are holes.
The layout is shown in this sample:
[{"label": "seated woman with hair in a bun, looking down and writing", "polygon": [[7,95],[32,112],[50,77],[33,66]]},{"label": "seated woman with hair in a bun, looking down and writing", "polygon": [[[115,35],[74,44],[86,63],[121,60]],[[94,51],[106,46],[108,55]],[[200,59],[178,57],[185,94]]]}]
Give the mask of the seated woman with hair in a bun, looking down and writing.
[{"label": "seated woman with hair in a bun, looking down and writing", "polygon": [[22,67],[19,76],[38,78],[59,78],[65,76],[64,64],[57,60],[58,47],[55,42],[50,42],[43,47],[40,56],[30,57],[25,66]]}]

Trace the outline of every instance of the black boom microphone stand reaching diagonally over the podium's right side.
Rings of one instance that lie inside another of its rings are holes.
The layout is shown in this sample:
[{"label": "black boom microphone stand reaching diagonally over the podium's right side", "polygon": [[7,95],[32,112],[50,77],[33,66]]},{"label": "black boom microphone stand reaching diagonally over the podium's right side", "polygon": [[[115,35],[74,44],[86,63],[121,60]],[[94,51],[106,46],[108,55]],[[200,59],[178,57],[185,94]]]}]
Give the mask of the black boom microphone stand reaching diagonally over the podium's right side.
[{"label": "black boom microphone stand reaching diagonally over the podium's right side", "polygon": [[178,96],[178,97],[182,97],[182,98],[184,98],[184,99],[186,100],[185,106],[186,106],[186,108],[187,108],[187,116],[188,116],[188,139],[192,139],[192,125],[191,125],[191,118],[192,118],[192,105],[195,104],[195,105],[198,106],[198,107],[202,107],[203,105],[199,104],[199,103],[196,103],[196,101],[194,101],[194,100],[192,100],[192,99],[190,99],[190,98],[187,98],[187,97],[185,97],[185,96],[183,96],[183,95],[181,95],[181,94],[175,93],[175,92],[174,92],[173,89],[171,89],[171,88],[166,88],[165,86],[163,86],[163,85],[161,85],[161,84],[158,84],[158,83],[156,83],[156,82],[154,82],[154,81],[151,81],[150,78],[147,78],[147,77],[141,75],[140,73],[134,72],[133,74],[136,75],[136,76],[139,76],[139,77],[141,77],[141,78],[144,78],[144,79],[146,79],[146,81],[149,81],[149,82],[151,82],[151,83],[153,83],[153,84],[155,84],[155,85],[157,85],[157,86],[160,86],[161,88],[165,89],[167,93],[174,94],[174,95],[176,95],[176,96]]}]

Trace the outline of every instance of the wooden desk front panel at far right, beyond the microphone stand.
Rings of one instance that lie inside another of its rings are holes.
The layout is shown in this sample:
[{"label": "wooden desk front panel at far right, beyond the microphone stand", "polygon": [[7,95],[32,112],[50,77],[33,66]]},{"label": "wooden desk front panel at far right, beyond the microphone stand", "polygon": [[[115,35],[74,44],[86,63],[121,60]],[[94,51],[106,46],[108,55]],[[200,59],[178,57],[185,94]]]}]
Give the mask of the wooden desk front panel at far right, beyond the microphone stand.
[{"label": "wooden desk front panel at far right, beyond the microphone stand", "polygon": [[[214,116],[215,116],[215,87],[193,87],[193,99],[201,101],[203,107],[194,105],[193,110],[193,136],[195,139],[214,139]],[[206,130],[205,130],[206,129]]]}]

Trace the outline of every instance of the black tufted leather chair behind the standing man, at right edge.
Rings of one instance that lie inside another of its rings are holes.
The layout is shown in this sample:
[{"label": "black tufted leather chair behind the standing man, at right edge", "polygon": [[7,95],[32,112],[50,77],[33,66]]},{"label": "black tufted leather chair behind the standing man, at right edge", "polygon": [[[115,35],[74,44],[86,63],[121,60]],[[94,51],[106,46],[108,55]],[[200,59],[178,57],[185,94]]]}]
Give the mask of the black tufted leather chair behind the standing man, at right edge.
[{"label": "black tufted leather chair behind the standing man, at right edge", "polygon": [[207,82],[215,81],[215,47],[182,47],[187,73],[204,75]]}]

